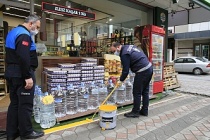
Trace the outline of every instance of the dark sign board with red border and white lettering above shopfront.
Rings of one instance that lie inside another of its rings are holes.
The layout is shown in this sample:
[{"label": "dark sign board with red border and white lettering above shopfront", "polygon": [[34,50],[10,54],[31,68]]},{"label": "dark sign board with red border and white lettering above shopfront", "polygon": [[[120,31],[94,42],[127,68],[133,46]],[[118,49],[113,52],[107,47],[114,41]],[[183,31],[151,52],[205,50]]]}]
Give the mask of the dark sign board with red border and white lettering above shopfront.
[{"label": "dark sign board with red border and white lettering above shopfront", "polygon": [[63,14],[66,16],[74,16],[79,18],[85,18],[90,20],[95,20],[95,13],[87,12],[84,10],[68,8],[66,6],[57,5],[57,4],[50,4],[46,2],[42,2],[42,10],[57,14]]}]

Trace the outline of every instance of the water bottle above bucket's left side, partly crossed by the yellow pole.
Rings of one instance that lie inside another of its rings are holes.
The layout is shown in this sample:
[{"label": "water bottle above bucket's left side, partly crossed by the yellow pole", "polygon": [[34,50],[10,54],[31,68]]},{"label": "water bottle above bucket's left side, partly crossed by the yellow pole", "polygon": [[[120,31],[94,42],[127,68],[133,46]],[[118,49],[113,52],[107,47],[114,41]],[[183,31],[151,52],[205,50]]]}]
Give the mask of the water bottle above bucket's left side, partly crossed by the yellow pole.
[{"label": "water bottle above bucket's left side, partly crossed by the yellow pole", "polygon": [[99,97],[98,97],[99,104],[101,104],[106,99],[107,94],[108,94],[107,87],[105,84],[103,84],[103,82],[99,85],[98,94],[99,94]]}]

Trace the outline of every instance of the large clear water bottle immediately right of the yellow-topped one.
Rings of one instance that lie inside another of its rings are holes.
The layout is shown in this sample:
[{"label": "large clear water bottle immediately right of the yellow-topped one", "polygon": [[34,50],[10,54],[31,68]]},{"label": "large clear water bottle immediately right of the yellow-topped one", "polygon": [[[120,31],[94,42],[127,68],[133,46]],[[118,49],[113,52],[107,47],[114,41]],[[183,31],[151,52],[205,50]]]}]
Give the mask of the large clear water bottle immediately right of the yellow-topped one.
[{"label": "large clear water bottle immediately right of the yellow-topped one", "polygon": [[64,117],[66,115],[66,94],[62,91],[60,85],[57,86],[57,90],[54,92],[55,98],[55,116],[57,118]]}]

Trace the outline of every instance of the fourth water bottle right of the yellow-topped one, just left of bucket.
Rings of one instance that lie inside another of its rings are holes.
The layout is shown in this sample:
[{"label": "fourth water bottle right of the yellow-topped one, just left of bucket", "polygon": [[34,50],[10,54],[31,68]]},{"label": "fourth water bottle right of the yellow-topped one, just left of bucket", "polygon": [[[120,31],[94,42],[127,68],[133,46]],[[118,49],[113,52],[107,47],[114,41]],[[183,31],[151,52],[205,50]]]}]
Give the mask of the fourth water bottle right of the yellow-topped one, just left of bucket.
[{"label": "fourth water bottle right of the yellow-topped one, just left of bucket", "polygon": [[92,82],[89,87],[88,109],[96,109],[98,106],[98,87]]}]

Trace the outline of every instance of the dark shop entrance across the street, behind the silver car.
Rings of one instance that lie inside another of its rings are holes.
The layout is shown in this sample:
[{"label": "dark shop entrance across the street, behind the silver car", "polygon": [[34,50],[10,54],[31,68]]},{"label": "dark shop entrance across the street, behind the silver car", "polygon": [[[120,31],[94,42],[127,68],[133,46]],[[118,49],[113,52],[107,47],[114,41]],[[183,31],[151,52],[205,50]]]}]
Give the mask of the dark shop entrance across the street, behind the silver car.
[{"label": "dark shop entrance across the street, behind the silver car", "polygon": [[194,55],[210,59],[209,50],[209,44],[196,44],[194,47]]}]

